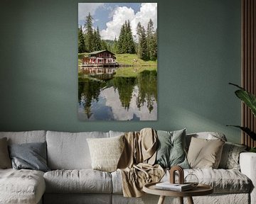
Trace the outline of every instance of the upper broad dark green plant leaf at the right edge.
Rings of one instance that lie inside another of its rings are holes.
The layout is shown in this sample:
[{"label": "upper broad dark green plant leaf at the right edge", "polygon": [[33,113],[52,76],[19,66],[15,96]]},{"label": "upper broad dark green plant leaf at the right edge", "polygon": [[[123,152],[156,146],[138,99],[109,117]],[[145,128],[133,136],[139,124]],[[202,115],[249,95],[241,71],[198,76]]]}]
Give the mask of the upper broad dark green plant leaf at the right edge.
[{"label": "upper broad dark green plant leaf at the right edge", "polygon": [[239,88],[239,90],[235,91],[235,95],[238,96],[238,98],[240,98],[245,103],[245,105],[250,108],[253,115],[256,117],[256,96],[247,92],[245,89],[236,84],[231,85],[237,86]]}]

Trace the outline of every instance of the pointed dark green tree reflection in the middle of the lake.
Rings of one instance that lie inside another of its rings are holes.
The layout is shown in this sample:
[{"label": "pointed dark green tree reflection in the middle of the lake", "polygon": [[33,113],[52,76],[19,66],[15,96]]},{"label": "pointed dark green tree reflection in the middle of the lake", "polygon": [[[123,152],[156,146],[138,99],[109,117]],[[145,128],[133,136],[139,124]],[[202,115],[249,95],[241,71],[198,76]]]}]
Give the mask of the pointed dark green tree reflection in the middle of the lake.
[{"label": "pointed dark green tree reflection in the middle of the lake", "polygon": [[113,79],[114,89],[118,90],[119,100],[121,101],[124,109],[129,110],[129,104],[132,100],[132,91],[135,83],[135,77],[114,77]]}]

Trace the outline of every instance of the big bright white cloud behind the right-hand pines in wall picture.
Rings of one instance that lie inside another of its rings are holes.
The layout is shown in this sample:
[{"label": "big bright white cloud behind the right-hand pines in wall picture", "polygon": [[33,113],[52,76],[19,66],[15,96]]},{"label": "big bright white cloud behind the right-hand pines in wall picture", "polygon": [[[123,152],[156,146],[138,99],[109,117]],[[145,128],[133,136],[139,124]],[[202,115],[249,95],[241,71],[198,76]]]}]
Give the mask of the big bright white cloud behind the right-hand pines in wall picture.
[{"label": "big bright white cloud behind the right-hand pines in wall picture", "polygon": [[107,28],[101,30],[100,35],[102,39],[114,40],[115,37],[119,37],[119,31],[124,21],[129,20],[132,27],[132,34],[137,35],[136,27],[140,22],[146,29],[149,18],[154,23],[154,28],[157,28],[157,4],[156,3],[142,3],[140,10],[134,13],[132,8],[126,6],[117,7],[114,9],[112,21],[107,22]]}]

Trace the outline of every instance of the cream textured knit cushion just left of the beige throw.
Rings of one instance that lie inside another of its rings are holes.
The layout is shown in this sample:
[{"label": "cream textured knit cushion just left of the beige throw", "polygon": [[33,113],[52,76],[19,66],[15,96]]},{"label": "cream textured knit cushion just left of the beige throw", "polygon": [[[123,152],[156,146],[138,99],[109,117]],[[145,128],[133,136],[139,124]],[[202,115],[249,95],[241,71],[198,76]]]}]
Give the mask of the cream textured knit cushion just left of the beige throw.
[{"label": "cream textured knit cushion just left of the beige throw", "polygon": [[87,142],[92,159],[92,169],[112,172],[124,149],[123,135],[111,138],[88,138]]}]

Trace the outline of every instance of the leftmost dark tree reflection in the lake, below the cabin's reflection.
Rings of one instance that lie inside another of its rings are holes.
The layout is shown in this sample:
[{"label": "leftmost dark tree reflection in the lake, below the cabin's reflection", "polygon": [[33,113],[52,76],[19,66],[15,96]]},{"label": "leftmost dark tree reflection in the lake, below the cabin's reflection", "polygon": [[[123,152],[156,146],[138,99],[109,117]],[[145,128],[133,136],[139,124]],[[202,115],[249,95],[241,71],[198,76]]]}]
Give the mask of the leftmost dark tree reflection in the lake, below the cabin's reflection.
[{"label": "leftmost dark tree reflection in the lake, below the cabin's reflection", "polygon": [[105,82],[93,79],[84,79],[78,82],[78,102],[85,109],[87,118],[92,116],[92,101],[99,101],[100,89],[105,86]]}]

